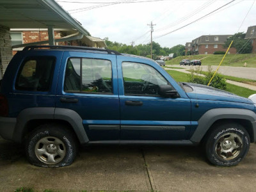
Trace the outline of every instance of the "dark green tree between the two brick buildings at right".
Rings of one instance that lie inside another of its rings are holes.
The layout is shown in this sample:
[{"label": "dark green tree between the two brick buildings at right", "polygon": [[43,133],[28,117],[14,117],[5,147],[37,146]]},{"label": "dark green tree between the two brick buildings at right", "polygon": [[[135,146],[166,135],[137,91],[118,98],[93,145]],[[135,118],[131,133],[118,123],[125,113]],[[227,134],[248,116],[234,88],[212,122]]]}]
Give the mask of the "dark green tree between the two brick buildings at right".
[{"label": "dark green tree between the two brick buildings at right", "polygon": [[251,53],[252,44],[250,41],[244,39],[245,33],[236,33],[235,35],[230,36],[225,42],[224,47],[227,48],[232,40],[234,40],[231,47],[235,47],[238,53]]}]

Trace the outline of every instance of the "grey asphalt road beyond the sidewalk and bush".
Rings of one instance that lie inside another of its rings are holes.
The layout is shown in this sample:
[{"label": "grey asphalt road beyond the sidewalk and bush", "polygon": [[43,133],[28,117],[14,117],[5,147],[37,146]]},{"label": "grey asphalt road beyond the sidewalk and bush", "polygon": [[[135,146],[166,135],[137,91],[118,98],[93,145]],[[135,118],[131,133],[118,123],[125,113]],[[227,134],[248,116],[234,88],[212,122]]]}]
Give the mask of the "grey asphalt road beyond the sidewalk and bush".
[{"label": "grey asphalt road beyond the sidewalk and bush", "polygon": [[[190,68],[189,65],[170,65],[171,67],[182,67],[182,68]],[[202,70],[207,71],[208,66],[202,65]],[[213,70],[216,70],[218,66],[211,65]],[[221,66],[219,72],[226,76],[233,77],[241,77],[246,79],[252,79],[256,81],[256,68],[253,67],[229,67],[229,66]]]}]

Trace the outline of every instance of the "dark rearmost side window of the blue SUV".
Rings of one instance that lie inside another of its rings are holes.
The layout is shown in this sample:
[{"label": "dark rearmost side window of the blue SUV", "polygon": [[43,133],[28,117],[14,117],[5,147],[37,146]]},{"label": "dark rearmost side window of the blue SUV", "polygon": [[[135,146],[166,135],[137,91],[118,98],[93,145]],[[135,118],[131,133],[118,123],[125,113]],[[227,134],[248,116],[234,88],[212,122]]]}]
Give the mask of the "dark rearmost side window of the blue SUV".
[{"label": "dark rearmost side window of the blue SUV", "polygon": [[51,56],[29,57],[22,63],[15,88],[34,92],[50,90],[56,59]]}]

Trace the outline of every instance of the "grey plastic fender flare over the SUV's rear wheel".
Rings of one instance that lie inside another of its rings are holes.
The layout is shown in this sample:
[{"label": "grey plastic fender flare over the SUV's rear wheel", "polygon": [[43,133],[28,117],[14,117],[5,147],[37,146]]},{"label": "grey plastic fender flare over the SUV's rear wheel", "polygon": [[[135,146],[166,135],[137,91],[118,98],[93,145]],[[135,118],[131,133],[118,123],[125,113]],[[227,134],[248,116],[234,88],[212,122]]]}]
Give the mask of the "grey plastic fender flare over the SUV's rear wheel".
[{"label": "grey plastic fender flare over the SUV's rear wheel", "polygon": [[81,144],[88,143],[89,139],[83,127],[83,120],[76,111],[65,108],[27,108],[17,116],[17,124],[13,132],[13,141],[22,142],[24,129],[30,120],[63,120],[68,122]]}]

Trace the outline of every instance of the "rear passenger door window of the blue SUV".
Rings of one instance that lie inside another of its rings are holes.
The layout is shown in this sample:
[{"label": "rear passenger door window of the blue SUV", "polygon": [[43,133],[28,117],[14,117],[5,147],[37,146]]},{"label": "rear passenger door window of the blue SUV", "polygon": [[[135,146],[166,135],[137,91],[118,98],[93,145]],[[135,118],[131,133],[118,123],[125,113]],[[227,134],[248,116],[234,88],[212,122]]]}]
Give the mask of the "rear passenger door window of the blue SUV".
[{"label": "rear passenger door window of the blue SUV", "polygon": [[65,92],[113,93],[111,61],[70,58],[65,73]]}]

